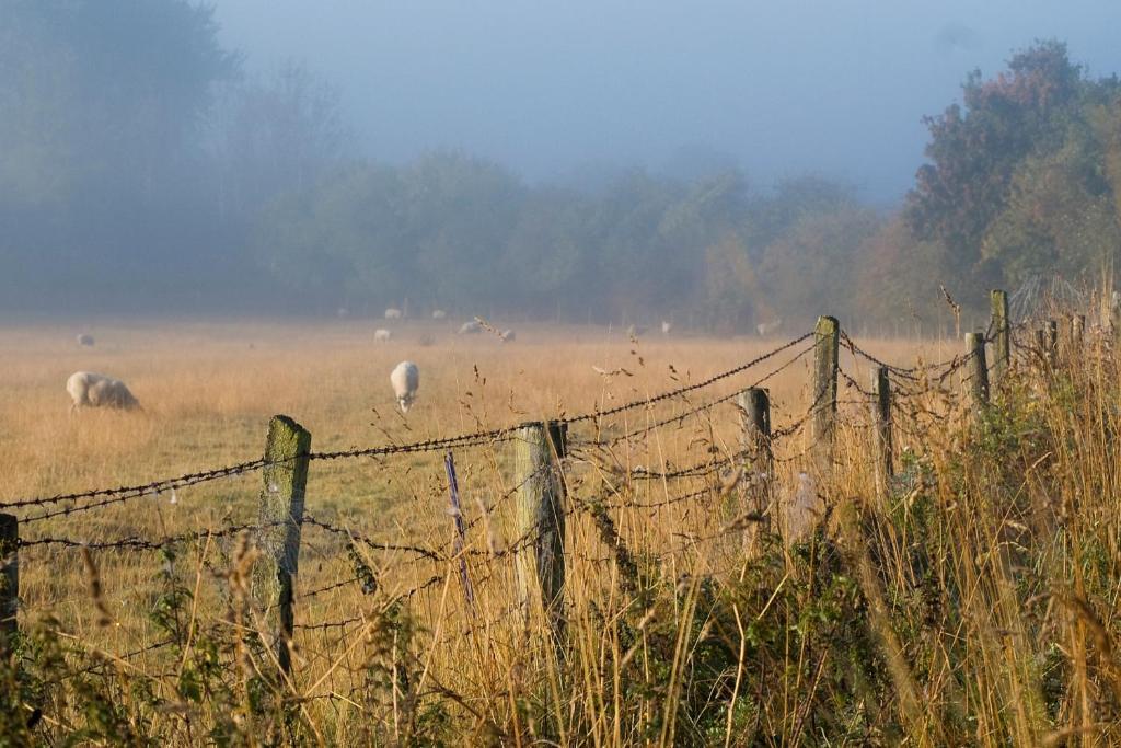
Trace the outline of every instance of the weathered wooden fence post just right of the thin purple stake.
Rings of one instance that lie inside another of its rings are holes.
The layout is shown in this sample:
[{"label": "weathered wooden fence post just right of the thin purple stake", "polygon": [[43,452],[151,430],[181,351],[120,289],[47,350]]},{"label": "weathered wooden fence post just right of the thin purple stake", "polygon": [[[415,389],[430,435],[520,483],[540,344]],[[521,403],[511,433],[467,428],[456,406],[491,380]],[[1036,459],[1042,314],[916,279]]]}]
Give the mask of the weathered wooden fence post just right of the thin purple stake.
[{"label": "weathered wooden fence post just right of the thin purple stake", "polygon": [[564,629],[565,486],[560,461],[567,454],[568,424],[528,423],[519,430],[516,474],[521,481],[516,543],[518,601],[527,616],[538,593],[554,636]]}]

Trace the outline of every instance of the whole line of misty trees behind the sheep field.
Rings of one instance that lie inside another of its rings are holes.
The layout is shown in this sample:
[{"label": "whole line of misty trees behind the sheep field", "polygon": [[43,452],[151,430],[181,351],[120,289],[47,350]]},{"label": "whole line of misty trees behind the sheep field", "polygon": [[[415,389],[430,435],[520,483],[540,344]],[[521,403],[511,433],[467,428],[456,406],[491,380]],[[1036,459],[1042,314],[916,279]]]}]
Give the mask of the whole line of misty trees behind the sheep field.
[{"label": "whole line of misty trees behind the sheep field", "polygon": [[[928,119],[899,211],[803,177],[527,184],[358,155],[337,93],[252,76],[184,0],[0,0],[0,307],[692,320],[930,316],[1035,273],[1112,271],[1121,87],[1058,43]],[[372,144],[377,149],[377,144]]]}]

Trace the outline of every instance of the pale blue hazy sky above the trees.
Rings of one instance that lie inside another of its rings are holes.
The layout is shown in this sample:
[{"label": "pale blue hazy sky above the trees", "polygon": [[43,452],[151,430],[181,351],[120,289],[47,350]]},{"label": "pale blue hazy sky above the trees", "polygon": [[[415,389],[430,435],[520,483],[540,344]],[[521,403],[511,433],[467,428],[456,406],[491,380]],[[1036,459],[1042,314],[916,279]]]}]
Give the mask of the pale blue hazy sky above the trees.
[{"label": "pale blue hazy sky above the trees", "polygon": [[752,183],[802,173],[896,202],[924,114],[1036,38],[1121,70],[1117,0],[216,0],[250,71],[306,63],[364,153],[451,147],[530,179],[728,155]]}]

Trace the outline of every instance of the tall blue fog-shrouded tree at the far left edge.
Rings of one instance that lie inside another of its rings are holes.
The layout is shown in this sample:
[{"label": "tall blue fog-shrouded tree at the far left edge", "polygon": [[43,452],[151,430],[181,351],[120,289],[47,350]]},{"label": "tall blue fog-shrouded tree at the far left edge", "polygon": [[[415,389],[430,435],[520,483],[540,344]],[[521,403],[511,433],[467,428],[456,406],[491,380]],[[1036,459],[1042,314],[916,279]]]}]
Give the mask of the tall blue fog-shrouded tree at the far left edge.
[{"label": "tall blue fog-shrouded tree at the far left edge", "polygon": [[[98,286],[114,302],[168,298],[167,280],[189,283],[189,250],[214,243],[197,213],[197,142],[212,86],[238,58],[219,45],[213,10],[2,0],[0,17],[0,242],[18,259],[11,290],[39,303],[44,292],[74,301]],[[143,268],[150,279],[138,284]]]}]

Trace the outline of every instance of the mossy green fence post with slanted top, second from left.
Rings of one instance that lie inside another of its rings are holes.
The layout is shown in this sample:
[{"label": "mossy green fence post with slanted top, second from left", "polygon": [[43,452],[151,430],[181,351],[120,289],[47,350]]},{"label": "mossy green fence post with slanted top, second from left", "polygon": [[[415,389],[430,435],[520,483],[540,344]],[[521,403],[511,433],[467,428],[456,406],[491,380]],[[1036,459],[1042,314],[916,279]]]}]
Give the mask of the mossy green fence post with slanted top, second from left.
[{"label": "mossy green fence post with slanted top, second from left", "polygon": [[288,416],[272,416],[265,442],[263,488],[253,569],[253,598],[265,621],[280,669],[291,671],[293,583],[298,572],[299,534],[307,491],[312,434]]}]

